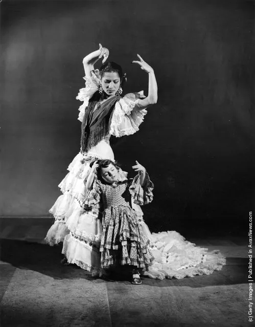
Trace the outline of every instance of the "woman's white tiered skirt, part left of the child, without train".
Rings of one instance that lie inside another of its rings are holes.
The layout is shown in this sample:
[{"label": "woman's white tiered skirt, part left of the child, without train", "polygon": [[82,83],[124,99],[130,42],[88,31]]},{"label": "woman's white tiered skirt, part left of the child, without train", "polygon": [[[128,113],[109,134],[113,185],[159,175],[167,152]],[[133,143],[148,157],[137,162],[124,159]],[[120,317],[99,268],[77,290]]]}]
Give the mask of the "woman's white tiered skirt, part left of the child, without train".
[{"label": "woman's white tiered skirt, part left of the child, without train", "polygon": [[[102,147],[104,157],[99,154]],[[97,275],[103,273],[99,252],[102,233],[99,208],[95,206],[92,211],[84,212],[80,206],[85,199],[84,180],[90,170],[89,164],[95,158],[114,160],[108,142],[101,141],[86,155],[79,153],[68,166],[69,172],[59,184],[63,194],[50,209],[55,222],[49,229],[45,242],[51,246],[63,242],[62,253],[68,263]]]}]

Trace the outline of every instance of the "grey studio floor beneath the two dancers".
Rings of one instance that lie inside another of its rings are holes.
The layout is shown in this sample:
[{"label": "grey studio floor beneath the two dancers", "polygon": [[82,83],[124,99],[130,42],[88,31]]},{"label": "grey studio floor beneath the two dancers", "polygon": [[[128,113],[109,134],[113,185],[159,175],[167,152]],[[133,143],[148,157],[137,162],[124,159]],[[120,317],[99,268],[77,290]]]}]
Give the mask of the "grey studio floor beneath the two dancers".
[{"label": "grey studio floor beneath the two dancers", "polygon": [[197,233],[189,241],[219,249],[227,265],[209,276],[93,279],[61,266],[61,246],[43,237],[51,219],[1,221],[1,327],[248,326],[247,244],[237,234]]}]

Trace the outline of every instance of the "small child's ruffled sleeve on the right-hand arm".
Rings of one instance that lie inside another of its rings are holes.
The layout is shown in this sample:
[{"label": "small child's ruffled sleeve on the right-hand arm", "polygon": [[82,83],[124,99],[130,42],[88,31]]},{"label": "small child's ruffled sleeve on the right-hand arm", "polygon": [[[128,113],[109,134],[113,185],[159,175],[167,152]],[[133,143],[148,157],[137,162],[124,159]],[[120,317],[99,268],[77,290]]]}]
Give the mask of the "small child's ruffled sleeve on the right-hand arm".
[{"label": "small child's ruffled sleeve on the right-hand arm", "polygon": [[140,175],[136,175],[131,185],[129,186],[129,192],[133,198],[135,204],[144,205],[153,200],[152,190],[154,188],[153,183],[150,181],[149,175],[146,172],[145,185],[142,187],[140,184]]}]

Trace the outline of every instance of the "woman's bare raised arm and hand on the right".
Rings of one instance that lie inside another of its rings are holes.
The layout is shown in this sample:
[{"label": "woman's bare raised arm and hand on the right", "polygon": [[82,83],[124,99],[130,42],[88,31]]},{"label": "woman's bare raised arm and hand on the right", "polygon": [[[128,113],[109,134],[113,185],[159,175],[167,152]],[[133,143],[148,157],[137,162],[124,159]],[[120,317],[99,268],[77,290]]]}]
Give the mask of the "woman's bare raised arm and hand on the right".
[{"label": "woman's bare raised arm and hand on the right", "polygon": [[146,71],[149,75],[149,87],[148,87],[148,96],[144,99],[139,99],[138,107],[136,110],[142,110],[144,107],[148,107],[151,104],[157,103],[157,81],[152,67],[144,61],[144,59],[137,54],[139,60],[133,60],[132,63],[137,63],[140,65],[141,69]]}]

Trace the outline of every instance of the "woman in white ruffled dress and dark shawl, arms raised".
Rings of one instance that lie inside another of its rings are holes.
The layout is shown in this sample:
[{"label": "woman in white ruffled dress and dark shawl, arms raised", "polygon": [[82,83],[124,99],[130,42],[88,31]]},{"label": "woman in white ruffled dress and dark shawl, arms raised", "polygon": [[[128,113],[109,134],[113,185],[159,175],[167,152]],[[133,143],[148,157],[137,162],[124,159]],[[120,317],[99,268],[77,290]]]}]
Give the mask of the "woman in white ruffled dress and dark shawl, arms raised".
[{"label": "woman in white ruffled dress and dark shawl, arms raised", "polygon": [[[55,222],[45,237],[50,245],[63,242],[64,262],[91,271],[93,276],[104,274],[100,253],[102,216],[99,203],[85,211],[81,208],[86,199],[83,182],[89,176],[91,162],[103,159],[114,162],[110,136],[122,137],[137,132],[147,114],[146,108],[157,102],[154,71],[141,56],[137,55],[140,60],[132,62],[148,73],[147,97],[143,92],[122,97],[125,74],[117,63],[106,62],[108,56],[108,49],[100,45],[99,50],[83,59],[86,87],[77,96],[83,102],[78,117],[82,122],[81,149],[59,184],[63,194],[50,209]],[[103,66],[100,70],[94,70],[94,65],[100,58],[103,58]],[[125,177],[125,172],[119,169],[119,178]],[[225,258],[219,251],[207,252],[207,249],[196,247],[175,231],[151,234],[143,221],[140,206],[134,201],[131,201],[131,205],[136,216],[140,217],[144,233],[150,239],[155,258],[145,275],[158,279],[192,277],[211,274],[225,264]]]}]

